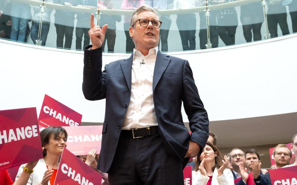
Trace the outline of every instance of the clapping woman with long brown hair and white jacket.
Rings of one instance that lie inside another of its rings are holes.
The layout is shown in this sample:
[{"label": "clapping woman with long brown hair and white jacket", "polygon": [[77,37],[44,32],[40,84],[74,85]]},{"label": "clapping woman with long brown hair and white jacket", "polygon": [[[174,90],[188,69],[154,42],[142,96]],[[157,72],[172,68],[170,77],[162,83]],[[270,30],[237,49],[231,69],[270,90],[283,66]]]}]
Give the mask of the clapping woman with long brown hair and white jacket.
[{"label": "clapping woman with long brown hair and white jacket", "polygon": [[195,171],[192,171],[193,185],[234,185],[231,170],[227,169],[228,160],[222,160],[220,151],[207,142],[200,157],[196,159]]}]

